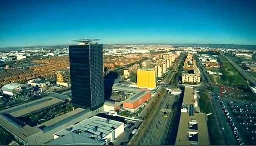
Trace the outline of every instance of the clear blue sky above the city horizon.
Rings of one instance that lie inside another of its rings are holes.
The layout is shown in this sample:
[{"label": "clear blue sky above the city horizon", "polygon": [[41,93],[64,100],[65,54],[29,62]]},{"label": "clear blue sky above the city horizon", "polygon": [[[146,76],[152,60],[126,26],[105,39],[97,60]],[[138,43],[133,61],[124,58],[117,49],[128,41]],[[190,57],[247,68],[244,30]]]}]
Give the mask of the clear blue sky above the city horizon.
[{"label": "clear blue sky above the city horizon", "polygon": [[80,38],[256,45],[256,0],[0,0],[0,47]]}]

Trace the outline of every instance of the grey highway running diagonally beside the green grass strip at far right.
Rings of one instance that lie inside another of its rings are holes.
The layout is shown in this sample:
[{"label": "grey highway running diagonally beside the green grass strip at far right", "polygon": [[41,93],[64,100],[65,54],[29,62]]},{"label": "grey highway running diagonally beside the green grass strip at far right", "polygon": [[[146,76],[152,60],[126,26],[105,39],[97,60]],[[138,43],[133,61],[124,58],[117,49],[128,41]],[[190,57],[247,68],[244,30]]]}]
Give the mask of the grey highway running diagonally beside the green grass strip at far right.
[{"label": "grey highway running diagonally beside the green grass strip at far right", "polygon": [[256,80],[252,77],[252,75],[250,73],[248,73],[247,71],[245,71],[244,69],[241,68],[241,66],[237,63],[235,63],[231,57],[226,56],[224,54],[220,54],[223,55],[229,62],[230,64],[250,83],[253,84],[253,86],[256,86]]}]

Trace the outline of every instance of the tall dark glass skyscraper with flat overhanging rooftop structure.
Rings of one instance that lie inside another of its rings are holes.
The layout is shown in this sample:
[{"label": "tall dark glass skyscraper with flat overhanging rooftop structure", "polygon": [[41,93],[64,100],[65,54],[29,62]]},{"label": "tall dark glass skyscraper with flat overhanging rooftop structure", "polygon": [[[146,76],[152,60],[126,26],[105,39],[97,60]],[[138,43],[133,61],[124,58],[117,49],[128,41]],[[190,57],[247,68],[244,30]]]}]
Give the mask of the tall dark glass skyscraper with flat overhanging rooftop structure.
[{"label": "tall dark glass skyscraper with flat overhanging rooftop structure", "polygon": [[98,109],[104,104],[103,45],[96,40],[69,46],[72,102],[74,105]]}]

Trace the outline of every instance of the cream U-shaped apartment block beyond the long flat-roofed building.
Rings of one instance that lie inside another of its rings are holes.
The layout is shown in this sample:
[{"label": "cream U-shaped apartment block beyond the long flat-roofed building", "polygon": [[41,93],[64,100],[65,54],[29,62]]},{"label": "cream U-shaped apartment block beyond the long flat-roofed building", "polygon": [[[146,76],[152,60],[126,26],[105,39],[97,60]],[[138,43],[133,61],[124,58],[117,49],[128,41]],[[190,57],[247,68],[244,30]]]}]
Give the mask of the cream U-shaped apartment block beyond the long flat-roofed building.
[{"label": "cream U-shaped apartment block beyond the long flat-roofed building", "polygon": [[201,80],[200,70],[195,67],[193,70],[182,73],[182,83],[199,84]]}]

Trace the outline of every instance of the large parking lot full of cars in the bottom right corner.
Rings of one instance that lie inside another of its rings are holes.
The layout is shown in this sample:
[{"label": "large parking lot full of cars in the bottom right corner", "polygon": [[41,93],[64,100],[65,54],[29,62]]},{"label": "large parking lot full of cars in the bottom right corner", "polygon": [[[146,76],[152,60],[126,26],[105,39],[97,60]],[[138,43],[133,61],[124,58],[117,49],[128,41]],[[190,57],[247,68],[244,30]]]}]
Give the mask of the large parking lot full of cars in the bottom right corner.
[{"label": "large parking lot full of cars in the bottom right corner", "polygon": [[256,105],[241,100],[224,99],[220,106],[229,120],[240,145],[256,144]]}]

